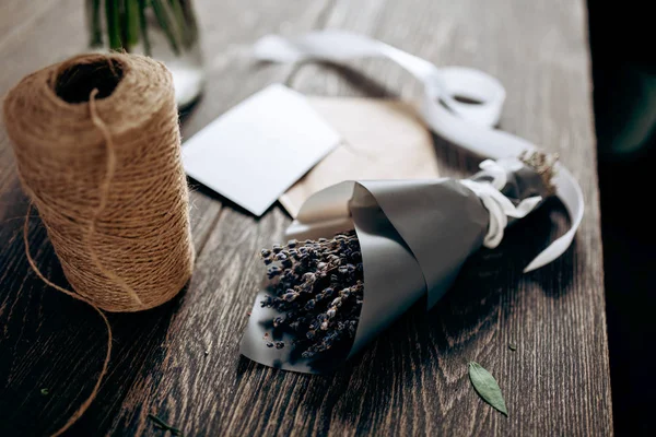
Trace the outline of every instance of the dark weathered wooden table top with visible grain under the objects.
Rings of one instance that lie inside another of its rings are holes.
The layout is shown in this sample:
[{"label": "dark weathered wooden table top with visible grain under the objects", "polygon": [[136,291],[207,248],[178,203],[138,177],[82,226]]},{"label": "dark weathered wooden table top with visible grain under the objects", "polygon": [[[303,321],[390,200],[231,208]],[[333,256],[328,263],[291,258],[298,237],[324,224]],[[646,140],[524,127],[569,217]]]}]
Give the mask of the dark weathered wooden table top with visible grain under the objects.
[{"label": "dark weathered wooden table top with visible grain under the objects", "polygon": [[[81,3],[2,1],[0,93],[84,48]],[[198,262],[189,288],[154,310],[109,316],[109,373],[71,435],[164,435],[149,413],[188,436],[612,434],[584,3],[197,1],[208,86],[183,125],[185,137],[272,82],[329,96],[419,95],[412,78],[380,60],[353,62],[355,72],[263,67],[248,56],[250,44],[268,33],[345,28],[440,66],[497,76],[508,91],[502,128],[560,153],[583,185],[586,215],[565,256],[523,275],[566,224],[558,204],[542,209],[508,232],[497,250],[475,256],[436,309],[411,310],[337,374],[307,376],[238,354],[262,273],[254,255],[280,240],[290,218],[274,206],[257,220],[199,189],[191,211]],[[435,142],[442,174],[476,169],[475,156]],[[31,272],[21,240],[26,204],[0,130],[0,435],[7,436],[59,428],[89,395],[105,354],[97,315]],[[66,284],[37,220],[30,239],[47,276]],[[475,393],[469,361],[495,375],[508,417]]]}]

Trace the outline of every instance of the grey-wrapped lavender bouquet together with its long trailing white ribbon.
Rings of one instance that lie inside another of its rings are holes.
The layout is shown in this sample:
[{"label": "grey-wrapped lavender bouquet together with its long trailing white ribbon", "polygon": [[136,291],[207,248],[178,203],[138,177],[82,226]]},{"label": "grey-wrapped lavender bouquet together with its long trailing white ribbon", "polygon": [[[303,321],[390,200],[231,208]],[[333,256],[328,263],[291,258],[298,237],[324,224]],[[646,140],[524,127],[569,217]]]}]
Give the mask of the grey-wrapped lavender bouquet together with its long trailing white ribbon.
[{"label": "grey-wrapped lavender bouquet together with its long trailing white ribbon", "polygon": [[433,307],[467,257],[499,245],[505,227],[548,196],[562,201],[571,228],[525,272],[553,261],[574,240],[584,214],[581,187],[535,144],[495,129],[505,99],[496,79],[438,68],[339,29],[267,35],[254,55],[271,62],[396,62],[423,84],[418,113],[429,129],[496,161],[484,161],[470,179],[347,181],[311,197],[288,229],[294,240],[262,252],[271,282],[258,295],[242,341],[250,359],[306,373],[338,366],[419,299]]}]

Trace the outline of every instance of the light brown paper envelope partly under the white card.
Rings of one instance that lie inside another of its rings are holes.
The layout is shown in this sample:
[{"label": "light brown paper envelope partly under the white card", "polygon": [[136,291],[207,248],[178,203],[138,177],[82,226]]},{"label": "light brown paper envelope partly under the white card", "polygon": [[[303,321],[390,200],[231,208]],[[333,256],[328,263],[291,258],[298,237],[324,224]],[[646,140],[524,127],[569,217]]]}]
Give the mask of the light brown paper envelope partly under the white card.
[{"label": "light brown paper envelope partly under the white card", "polygon": [[433,140],[412,105],[377,98],[308,101],[343,141],[280,197],[293,217],[309,196],[342,180],[438,177]]}]

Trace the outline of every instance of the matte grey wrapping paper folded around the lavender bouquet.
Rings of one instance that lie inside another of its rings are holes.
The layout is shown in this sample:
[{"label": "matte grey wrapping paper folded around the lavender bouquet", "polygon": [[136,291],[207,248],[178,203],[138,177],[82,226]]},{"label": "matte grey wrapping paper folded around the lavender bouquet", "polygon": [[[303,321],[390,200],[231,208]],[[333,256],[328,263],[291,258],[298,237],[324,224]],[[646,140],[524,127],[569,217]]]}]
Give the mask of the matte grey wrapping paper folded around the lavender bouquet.
[{"label": "matte grey wrapping paper folded around the lavender bouquet", "polygon": [[[501,190],[514,204],[550,190],[540,175],[517,160],[497,162],[506,173]],[[472,178],[490,181],[483,170]],[[373,180],[347,181],[314,194],[303,205],[288,234],[297,239],[331,238],[355,228],[364,268],[364,298],[353,345],[348,358],[386,329],[410,306],[426,295],[432,308],[446,293],[466,259],[482,244],[490,212],[481,199],[460,181]],[[291,347],[265,345],[271,320],[278,316],[261,308],[266,292],[258,294],[241,352],[277,368],[319,373],[340,363],[291,361]],[[280,340],[291,344],[291,336]],[[316,358],[315,358],[316,359]]]}]

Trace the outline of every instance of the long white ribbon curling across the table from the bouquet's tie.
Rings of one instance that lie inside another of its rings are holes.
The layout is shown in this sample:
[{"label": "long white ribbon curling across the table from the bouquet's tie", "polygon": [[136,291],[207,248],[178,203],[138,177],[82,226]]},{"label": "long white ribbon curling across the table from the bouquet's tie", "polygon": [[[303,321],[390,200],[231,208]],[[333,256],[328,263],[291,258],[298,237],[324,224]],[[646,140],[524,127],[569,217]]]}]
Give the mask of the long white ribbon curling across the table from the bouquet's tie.
[{"label": "long white ribbon curling across the table from the bouquet's tie", "polygon": [[[343,31],[315,32],[289,39],[277,35],[265,36],[255,44],[254,55],[260,60],[272,62],[316,59],[336,63],[363,57],[385,57],[398,63],[423,83],[424,98],[420,113],[429,128],[440,137],[481,156],[494,160],[517,157],[525,151],[536,149],[535,144],[519,137],[494,129],[505,101],[505,90],[496,79],[482,71],[462,67],[438,69],[424,59],[385,43]],[[480,102],[480,104],[461,103],[454,96],[467,97]],[[578,182],[561,164],[557,164],[555,172],[557,175],[553,178],[555,192],[570,214],[572,227],[538,255],[526,267],[525,272],[538,269],[559,258],[572,244],[583,220],[584,200]],[[492,186],[489,187],[492,188]],[[507,220],[506,215],[508,214],[505,211],[509,210],[504,210],[503,201],[496,194],[492,194],[489,188],[479,186],[479,189],[487,192],[489,204],[495,203],[495,206],[491,208],[504,211],[501,214],[503,217],[495,218],[497,220],[495,226],[500,226],[504,220]],[[488,205],[485,208],[490,209]],[[492,210],[490,211],[492,216]],[[489,233],[489,235],[491,234]],[[499,232],[495,232],[493,236],[495,239],[499,238]],[[503,227],[501,236],[503,237]]]}]

